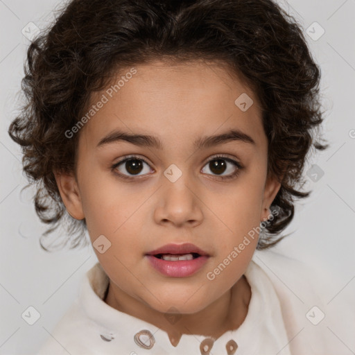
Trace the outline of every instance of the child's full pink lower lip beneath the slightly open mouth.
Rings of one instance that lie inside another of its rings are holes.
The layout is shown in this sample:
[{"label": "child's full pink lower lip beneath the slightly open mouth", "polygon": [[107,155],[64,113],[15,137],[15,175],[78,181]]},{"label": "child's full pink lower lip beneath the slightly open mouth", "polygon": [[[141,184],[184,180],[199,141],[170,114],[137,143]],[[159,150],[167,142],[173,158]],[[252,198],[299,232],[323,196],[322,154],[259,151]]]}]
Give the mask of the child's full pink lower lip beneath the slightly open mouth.
[{"label": "child's full pink lower lip beneath the slightly open mouth", "polygon": [[161,272],[163,275],[169,277],[187,277],[198,272],[200,268],[207,262],[209,257],[203,255],[192,260],[178,260],[178,261],[168,261],[164,259],[159,259],[153,257],[153,255],[146,255],[150,265],[156,270]]}]

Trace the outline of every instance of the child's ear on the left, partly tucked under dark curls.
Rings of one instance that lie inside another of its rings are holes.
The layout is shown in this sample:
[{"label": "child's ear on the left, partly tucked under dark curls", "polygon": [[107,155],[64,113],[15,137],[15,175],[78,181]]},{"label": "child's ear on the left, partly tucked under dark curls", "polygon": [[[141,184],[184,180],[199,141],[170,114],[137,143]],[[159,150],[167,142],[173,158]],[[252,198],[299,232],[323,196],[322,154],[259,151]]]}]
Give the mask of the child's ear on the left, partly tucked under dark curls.
[{"label": "child's ear on the left, partly tucked under dark curls", "polygon": [[75,219],[85,218],[78,182],[74,174],[59,173],[58,171],[53,171],[53,173],[67,212]]}]

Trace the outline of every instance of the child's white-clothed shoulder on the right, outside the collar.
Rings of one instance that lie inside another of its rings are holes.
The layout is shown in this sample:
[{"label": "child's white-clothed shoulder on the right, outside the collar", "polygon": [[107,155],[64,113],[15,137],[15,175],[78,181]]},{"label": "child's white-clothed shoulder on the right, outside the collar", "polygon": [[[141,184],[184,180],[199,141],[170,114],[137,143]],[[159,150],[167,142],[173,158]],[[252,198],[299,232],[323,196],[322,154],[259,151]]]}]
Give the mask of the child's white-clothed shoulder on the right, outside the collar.
[{"label": "child's white-clothed shoulder on the right, outside the collar", "polygon": [[274,250],[256,250],[252,262],[259,273],[267,275],[277,294],[292,354],[347,354],[347,347],[339,348],[339,338],[346,338],[348,347],[354,347],[349,334],[349,327],[355,327],[355,316],[349,312],[354,306],[329,302],[335,275],[322,275]]}]

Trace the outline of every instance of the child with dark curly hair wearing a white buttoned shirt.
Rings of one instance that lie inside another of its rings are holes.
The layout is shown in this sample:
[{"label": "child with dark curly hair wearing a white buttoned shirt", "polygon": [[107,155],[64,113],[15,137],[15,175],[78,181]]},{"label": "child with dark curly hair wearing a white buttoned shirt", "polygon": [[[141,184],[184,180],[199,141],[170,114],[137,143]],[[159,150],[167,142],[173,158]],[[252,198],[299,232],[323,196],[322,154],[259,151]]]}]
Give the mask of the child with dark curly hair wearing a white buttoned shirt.
[{"label": "child with dark curly hair wearing a white buttoned shirt", "polygon": [[308,271],[270,251],[327,147],[319,81],[270,0],[67,4],[9,133],[48,233],[69,218],[98,263],[39,354],[334,354]]}]

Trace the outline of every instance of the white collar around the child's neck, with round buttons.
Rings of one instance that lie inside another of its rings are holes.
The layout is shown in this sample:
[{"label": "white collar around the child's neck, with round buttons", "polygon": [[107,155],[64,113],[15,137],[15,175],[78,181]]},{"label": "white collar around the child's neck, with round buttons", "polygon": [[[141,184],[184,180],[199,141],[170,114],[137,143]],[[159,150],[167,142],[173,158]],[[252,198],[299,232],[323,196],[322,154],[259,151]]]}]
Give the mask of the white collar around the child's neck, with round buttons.
[{"label": "white collar around the child's neck, with round buttons", "polygon": [[[166,349],[167,354],[198,354],[198,349],[201,354],[209,354],[208,347],[212,347],[211,352],[214,354],[234,354],[232,347],[235,342],[238,348],[236,355],[244,352],[256,354],[260,351],[264,354],[275,351],[276,354],[283,347],[280,354],[289,354],[288,347],[285,348],[288,340],[279,300],[270,279],[253,260],[244,275],[250,284],[252,297],[243,324],[238,329],[225,332],[216,340],[201,335],[182,334],[177,347],[171,345],[168,334],[162,329],[118,311],[103,301],[110,280],[100,263],[87,271],[80,287],[79,303],[85,317],[94,322],[106,342],[119,338],[146,349],[153,343],[152,351],[158,345]],[[227,347],[230,349],[226,352]],[[203,349],[207,349],[207,352],[203,352]]]}]

